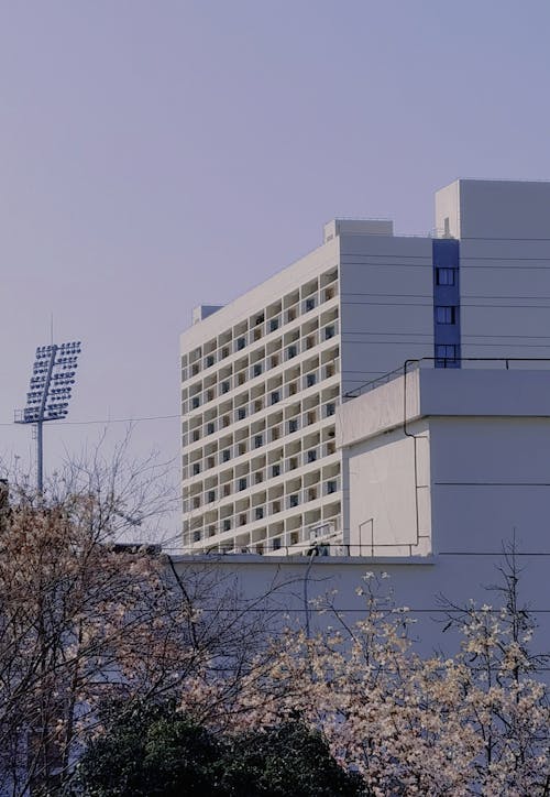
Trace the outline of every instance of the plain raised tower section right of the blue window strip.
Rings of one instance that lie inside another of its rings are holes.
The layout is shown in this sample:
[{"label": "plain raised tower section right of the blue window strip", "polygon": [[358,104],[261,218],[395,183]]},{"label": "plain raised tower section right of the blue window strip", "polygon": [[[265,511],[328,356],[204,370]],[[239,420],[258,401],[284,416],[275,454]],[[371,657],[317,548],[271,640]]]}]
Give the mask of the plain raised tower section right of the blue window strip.
[{"label": "plain raised tower section right of the blue window strip", "polygon": [[460,179],[436,194],[460,243],[463,358],[548,358],[550,183]]}]

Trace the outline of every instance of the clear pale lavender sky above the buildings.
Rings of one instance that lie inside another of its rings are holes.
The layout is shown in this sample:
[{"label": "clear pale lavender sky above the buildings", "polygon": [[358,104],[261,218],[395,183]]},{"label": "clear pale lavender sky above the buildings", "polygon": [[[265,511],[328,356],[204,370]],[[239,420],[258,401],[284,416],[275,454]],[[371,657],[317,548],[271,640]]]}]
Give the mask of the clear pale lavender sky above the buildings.
[{"label": "clear pale lavender sky above the buildings", "polygon": [[[426,233],[457,177],[550,178],[549,29],[548,0],[0,0],[3,460],[52,313],[69,421],[177,415],[191,308],[322,222]],[[51,426],[46,467],[102,428]],[[177,458],[177,418],[134,448]]]}]

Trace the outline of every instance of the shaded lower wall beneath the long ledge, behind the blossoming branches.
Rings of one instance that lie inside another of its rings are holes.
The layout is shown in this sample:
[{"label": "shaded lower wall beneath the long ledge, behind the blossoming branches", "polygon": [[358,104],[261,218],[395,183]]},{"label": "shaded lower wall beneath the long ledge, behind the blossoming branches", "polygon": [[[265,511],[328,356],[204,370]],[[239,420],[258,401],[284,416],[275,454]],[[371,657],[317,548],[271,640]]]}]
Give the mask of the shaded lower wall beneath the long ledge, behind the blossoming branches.
[{"label": "shaded lower wall beneath the long ledge, behind the blossoming branches", "polygon": [[[550,602],[548,598],[548,567],[550,555],[534,554],[524,549],[518,553],[522,568],[519,596],[539,623],[534,645],[548,649],[550,640]],[[334,608],[349,624],[364,615],[364,600],[355,594],[364,586],[362,577],[372,571],[378,576],[387,574],[381,581],[384,590],[392,591],[396,605],[407,605],[417,624],[414,636],[424,653],[442,651],[452,654],[459,640],[451,633],[442,633],[447,614],[441,605],[444,597],[458,605],[465,605],[470,599],[481,605],[498,605],[498,596],[487,587],[499,581],[497,567],[504,564],[502,552],[481,556],[464,550],[458,555],[439,554],[424,559],[382,559],[358,557],[309,557],[266,558],[255,556],[180,557],[177,568],[182,575],[188,568],[208,568],[219,574],[223,583],[235,580],[244,598],[258,599],[267,591],[273,592],[270,604],[276,608],[278,623],[284,626],[306,625],[308,607],[311,632],[327,625],[338,625],[332,613],[320,613],[315,600],[337,590],[331,596]],[[256,604],[256,608],[262,604]]]}]

